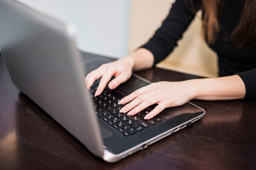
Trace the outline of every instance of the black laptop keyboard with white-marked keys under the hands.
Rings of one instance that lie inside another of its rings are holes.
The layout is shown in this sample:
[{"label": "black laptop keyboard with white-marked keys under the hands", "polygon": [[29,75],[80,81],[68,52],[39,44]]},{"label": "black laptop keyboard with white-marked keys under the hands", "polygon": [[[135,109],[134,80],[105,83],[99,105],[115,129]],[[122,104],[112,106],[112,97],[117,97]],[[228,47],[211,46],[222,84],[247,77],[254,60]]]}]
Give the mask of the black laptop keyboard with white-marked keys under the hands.
[{"label": "black laptop keyboard with white-marked keys under the hands", "polygon": [[97,79],[89,89],[89,92],[91,93],[90,97],[92,98],[92,105],[95,110],[94,113],[101,121],[106,122],[106,124],[119,133],[128,137],[135,133],[139,133],[144,129],[150,128],[150,126],[164,120],[164,118],[159,115],[155,116],[153,119],[144,120],[145,115],[153,108],[146,108],[134,116],[128,116],[126,113],[120,113],[119,111],[124,105],[118,105],[122,96],[117,92],[117,90],[110,90],[108,85],[106,85],[103,92],[99,96],[94,97],[99,81],[100,79]]}]

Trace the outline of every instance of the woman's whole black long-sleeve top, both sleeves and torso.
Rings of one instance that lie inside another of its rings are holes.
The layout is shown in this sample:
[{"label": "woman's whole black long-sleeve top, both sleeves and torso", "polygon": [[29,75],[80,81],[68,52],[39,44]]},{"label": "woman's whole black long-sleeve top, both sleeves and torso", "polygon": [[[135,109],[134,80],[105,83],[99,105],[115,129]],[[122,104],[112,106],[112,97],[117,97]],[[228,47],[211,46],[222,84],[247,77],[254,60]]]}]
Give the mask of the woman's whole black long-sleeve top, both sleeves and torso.
[{"label": "woman's whole black long-sleeve top, both sleeves and torso", "polygon": [[[194,1],[200,4],[199,1]],[[227,37],[238,24],[240,5],[240,0],[225,1],[219,20],[220,31],[216,42],[210,45],[210,48],[218,54],[219,76],[237,74],[245,84],[245,98],[256,98],[256,49],[236,48],[227,41]],[[186,0],[176,0],[162,26],[146,44],[141,46],[153,53],[154,65],[172,52],[194,17],[195,14],[187,6]]]}]

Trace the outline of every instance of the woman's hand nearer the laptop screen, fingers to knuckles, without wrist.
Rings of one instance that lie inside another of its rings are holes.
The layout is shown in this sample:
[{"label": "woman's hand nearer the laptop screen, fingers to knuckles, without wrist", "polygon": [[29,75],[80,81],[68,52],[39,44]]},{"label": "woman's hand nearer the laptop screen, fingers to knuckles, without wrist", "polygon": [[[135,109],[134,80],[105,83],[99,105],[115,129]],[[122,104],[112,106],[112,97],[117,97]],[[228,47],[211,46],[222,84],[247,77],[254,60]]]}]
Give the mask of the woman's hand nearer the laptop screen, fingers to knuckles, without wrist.
[{"label": "woman's hand nearer the laptop screen, fingers to knuckles, without wrist", "polygon": [[96,70],[93,70],[85,77],[85,83],[87,89],[89,89],[95,80],[101,78],[99,86],[95,92],[94,96],[99,96],[103,89],[106,87],[107,83],[110,81],[112,76],[115,78],[108,83],[110,89],[115,89],[121,83],[127,81],[132,75],[132,68],[135,65],[135,61],[131,57],[125,57],[101,65]]}]

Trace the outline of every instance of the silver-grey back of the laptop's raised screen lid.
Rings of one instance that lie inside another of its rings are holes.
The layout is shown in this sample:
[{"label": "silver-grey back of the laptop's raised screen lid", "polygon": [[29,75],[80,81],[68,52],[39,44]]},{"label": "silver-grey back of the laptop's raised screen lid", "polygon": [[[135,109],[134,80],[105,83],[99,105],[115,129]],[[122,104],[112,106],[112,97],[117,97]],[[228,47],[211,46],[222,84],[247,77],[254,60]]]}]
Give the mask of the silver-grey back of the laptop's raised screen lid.
[{"label": "silver-grey back of the laptop's raised screen lid", "polygon": [[0,49],[14,85],[102,157],[74,33],[72,25],[15,0],[0,0]]}]

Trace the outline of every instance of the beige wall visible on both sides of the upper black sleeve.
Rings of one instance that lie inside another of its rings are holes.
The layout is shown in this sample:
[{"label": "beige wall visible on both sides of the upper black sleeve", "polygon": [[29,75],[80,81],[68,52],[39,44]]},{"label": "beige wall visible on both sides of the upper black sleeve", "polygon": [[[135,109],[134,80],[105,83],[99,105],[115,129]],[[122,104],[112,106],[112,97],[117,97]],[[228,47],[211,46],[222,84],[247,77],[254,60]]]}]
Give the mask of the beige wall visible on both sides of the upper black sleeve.
[{"label": "beige wall visible on both sides of the upper black sleeve", "polygon": [[[174,1],[131,0],[130,52],[148,41],[161,26]],[[199,76],[217,76],[217,57],[202,39],[200,16],[200,12],[197,13],[178,46],[157,67]]]}]

